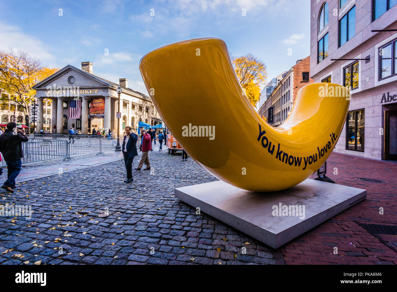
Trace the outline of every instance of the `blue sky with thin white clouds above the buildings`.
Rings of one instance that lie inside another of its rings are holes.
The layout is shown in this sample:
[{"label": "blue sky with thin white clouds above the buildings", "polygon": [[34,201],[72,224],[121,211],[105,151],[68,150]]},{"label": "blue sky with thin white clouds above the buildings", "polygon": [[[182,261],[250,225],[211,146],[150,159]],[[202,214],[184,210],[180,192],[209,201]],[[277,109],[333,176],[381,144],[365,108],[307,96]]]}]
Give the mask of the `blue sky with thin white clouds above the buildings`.
[{"label": "blue sky with thin white clouds above the buildings", "polygon": [[127,78],[130,88],[145,94],[141,57],[200,37],[223,39],[233,56],[254,54],[265,62],[269,81],[310,54],[310,1],[0,2],[0,50],[24,50],[57,68],[91,61],[94,74],[116,83]]}]

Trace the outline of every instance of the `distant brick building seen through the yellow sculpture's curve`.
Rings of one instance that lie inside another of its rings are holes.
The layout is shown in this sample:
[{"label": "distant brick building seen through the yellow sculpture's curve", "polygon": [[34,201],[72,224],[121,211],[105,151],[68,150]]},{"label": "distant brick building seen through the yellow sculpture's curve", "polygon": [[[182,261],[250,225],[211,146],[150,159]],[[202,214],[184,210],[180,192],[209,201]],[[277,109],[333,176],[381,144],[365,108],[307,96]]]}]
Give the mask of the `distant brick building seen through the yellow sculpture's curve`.
[{"label": "distant brick building seen through the yellow sculpture's curve", "polygon": [[[268,123],[277,127],[281,125],[290,114],[295,103],[295,98],[299,89],[304,85],[313,83],[309,77],[310,56],[297,60],[294,65],[281,79],[274,88],[272,94],[266,99],[265,103],[259,109],[259,114],[268,118]],[[268,113],[273,112],[273,123]]]}]

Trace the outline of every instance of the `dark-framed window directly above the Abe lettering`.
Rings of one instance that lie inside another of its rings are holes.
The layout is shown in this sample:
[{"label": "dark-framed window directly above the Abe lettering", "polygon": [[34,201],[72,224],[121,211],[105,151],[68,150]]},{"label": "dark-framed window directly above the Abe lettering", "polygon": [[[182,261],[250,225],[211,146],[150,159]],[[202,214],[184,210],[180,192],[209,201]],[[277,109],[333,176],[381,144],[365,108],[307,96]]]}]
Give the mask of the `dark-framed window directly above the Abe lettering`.
[{"label": "dark-framed window directly above the Abe lettering", "polygon": [[379,80],[397,75],[396,51],[397,39],[379,48]]}]

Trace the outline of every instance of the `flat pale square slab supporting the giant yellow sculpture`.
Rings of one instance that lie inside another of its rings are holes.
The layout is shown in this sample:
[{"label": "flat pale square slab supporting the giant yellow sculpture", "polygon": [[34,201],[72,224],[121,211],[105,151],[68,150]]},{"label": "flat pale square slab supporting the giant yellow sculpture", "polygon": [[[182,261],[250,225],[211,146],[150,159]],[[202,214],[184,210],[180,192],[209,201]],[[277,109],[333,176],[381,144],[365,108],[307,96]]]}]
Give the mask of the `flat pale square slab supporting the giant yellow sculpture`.
[{"label": "flat pale square slab supporting the giant yellow sculpture", "polygon": [[178,199],[272,248],[364,200],[366,193],[311,179],[269,193],[242,190],[222,181],[175,189]]}]

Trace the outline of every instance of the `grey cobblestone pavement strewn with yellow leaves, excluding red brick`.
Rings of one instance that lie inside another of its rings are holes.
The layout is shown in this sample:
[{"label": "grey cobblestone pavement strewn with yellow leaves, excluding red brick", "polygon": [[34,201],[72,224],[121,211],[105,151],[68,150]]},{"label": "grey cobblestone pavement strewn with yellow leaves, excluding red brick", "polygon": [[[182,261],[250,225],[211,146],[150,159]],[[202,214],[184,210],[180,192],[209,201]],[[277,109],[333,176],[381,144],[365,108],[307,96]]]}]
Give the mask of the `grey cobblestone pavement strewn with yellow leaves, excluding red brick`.
[{"label": "grey cobblestone pavement strewn with yellow leaves, excluding red brick", "polygon": [[[34,212],[31,220],[0,217],[0,263],[282,262],[278,251],[212,217],[196,215],[173,196],[176,187],[216,178],[191,159],[182,161],[181,153],[149,155],[153,171],[134,170],[131,184],[123,183],[125,168],[117,161],[23,182],[13,194],[2,191],[3,207],[31,205]],[[98,217],[106,209],[109,216]]]}]

